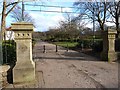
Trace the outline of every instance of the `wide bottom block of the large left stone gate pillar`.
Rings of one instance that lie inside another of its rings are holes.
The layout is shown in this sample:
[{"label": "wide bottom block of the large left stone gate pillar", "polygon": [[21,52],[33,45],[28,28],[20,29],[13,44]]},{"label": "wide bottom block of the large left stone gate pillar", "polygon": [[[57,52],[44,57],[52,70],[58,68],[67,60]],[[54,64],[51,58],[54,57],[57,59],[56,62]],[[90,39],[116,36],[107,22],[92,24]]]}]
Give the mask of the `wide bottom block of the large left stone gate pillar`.
[{"label": "wide bottom block of the large left stone gate pillar", "polygon": [[19,83],[31,83],[35,81],[35,67],[31,64],[31,67],[29,67],[30,64],[27,67],[19,67],[15,66],[13,69],[13,83],[19,84]]}]

